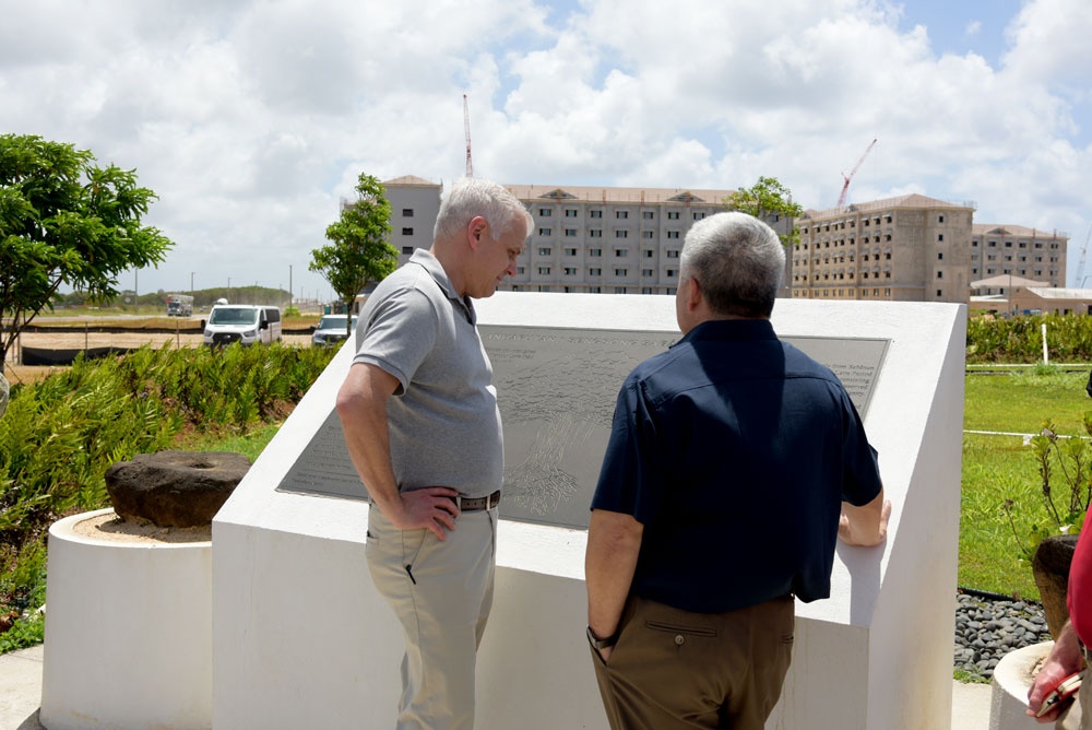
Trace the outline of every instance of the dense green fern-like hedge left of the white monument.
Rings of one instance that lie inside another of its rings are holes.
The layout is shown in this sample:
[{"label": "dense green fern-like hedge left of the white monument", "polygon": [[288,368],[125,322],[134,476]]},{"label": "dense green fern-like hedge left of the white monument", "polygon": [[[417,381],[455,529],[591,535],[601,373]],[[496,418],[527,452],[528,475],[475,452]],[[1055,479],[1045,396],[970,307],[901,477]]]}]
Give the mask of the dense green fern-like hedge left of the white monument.
[{"label": "dense green fern-like hedge left of the white monument", "polygon": [[48,527],[109,505],[107,467],[177,448],[194,432],[283,420],[334,352],[145,346],[14,387],[0,419],[0,620],[16,626],[0,634],[0,651],[40,641],[40,627],[19,624],[45,600]]}]

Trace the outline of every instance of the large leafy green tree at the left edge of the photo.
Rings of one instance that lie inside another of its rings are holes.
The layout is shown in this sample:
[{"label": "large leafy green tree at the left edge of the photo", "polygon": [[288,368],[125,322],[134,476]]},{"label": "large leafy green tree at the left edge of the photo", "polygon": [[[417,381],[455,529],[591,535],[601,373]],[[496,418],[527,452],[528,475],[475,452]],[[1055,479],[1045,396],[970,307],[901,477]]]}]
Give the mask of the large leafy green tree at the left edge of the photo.
[{"label": "large leafy green tree at the left edge of the photo", "polygon": [[87,150],[0,134],[0,367],[61,284],[109,299],[119,274],[163,261],[171,242],[141,225],[155,199],[135,170],[99,167]]}]

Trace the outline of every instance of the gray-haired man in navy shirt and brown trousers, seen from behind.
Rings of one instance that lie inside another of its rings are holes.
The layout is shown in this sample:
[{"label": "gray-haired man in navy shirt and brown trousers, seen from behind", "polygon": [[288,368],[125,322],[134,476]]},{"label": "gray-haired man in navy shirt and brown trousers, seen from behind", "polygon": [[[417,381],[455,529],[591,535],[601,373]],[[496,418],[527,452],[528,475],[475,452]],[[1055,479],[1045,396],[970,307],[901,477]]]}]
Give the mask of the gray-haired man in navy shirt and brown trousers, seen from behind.
[{"label": "gray-haired man in navy shirt and brown trousers, seen from behind", "polygon": [[770,323],[785,254],[744,213],[682,247],[682,339],[622,385],[587,534],[587,638],[614,730],[761,730],[794,597],[839,537],[887,534],[876,450],[842,384]]}]

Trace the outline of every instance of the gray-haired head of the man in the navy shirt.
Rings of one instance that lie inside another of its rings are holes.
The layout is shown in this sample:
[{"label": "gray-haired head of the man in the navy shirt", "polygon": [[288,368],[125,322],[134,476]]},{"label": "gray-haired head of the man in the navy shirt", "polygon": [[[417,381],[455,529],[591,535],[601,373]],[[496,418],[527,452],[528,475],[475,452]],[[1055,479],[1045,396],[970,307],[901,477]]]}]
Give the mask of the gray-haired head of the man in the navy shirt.
[{"label": "gray-haired head of the man in the navy shirt", "polygon": [[679,281],[697,279],[719,315],[769,317],[785,270],[785,249],[769,225],[746,213],[693,224],[679,257]]}]

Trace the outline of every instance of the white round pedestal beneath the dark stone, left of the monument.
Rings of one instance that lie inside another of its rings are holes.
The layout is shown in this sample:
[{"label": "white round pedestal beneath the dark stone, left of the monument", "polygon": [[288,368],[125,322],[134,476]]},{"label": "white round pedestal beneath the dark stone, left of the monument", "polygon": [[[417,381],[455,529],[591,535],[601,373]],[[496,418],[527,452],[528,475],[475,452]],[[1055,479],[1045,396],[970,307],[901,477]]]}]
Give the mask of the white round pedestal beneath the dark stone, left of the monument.
[{"label": "white round pedestal beneath the dark stone, left of the monument", "polygon": [[49,528],[41,723],[212,727],[212,541],[112,509]]}]

